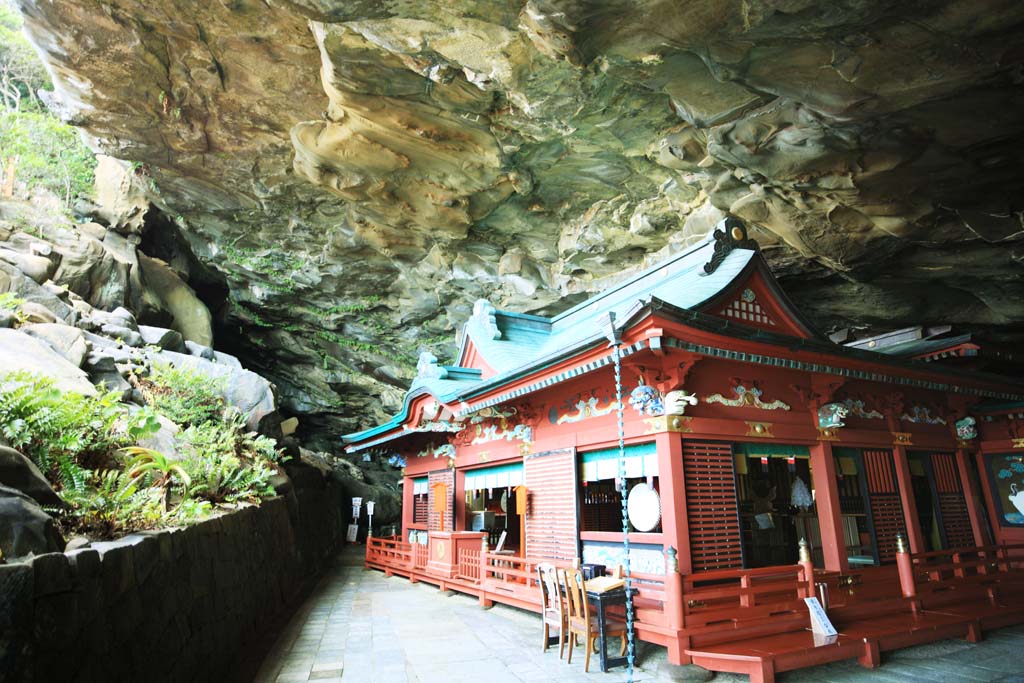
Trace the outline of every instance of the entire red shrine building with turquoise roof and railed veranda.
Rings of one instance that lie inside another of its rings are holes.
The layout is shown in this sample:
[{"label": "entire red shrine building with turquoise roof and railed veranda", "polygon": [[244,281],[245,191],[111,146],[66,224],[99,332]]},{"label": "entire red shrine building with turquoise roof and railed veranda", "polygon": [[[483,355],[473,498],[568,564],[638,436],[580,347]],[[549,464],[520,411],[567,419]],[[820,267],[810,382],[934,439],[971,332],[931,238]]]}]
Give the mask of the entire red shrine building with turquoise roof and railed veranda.
[{"label": "entire red shrine building with turquoise roof and railed veranda", "polygon": [[[852,624],[871,616],[867,596],[927,612],[906,581],[963,561],[954,550],[982,558],[970,575],[1001,553],[1009,575],[1006,548],[1024,543],[1024,387],[965,367],[974,341],[916,330],[822,337],[733,218],[554,317],[477,301],[456,365],[423,354],[398,415],[345,437],[407,463],[401,533],[371,540],[367,564],[539,609],[537,562],[625,563],[625,496],[638,637],[675,663],[769,680],[771,666],[700,658],[765,632],[730,616],[732,633],[710,637],[701,610],[728,596],[702,599],[701,581],[750,587],[796,567],[798,593],[830,589]],[[958,634],[918,631],[876,639],[876,664],[880,644]],[[811,649],[774,671],[827,660]]]}]

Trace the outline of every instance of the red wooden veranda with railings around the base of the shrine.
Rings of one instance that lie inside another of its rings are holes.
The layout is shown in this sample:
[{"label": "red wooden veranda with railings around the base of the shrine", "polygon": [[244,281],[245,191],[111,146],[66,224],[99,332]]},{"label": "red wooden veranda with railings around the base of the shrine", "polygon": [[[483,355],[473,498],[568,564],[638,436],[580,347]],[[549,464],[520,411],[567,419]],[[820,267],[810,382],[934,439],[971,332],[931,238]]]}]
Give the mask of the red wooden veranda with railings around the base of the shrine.
[{"label": "red wooden veranda with railings around the base of the shrine", "polygon": [[[492,552],[483,533],[431,541],[370,538],[366,567],[476,596],[481,607],[540,612],[537,565],[550,560]],[[438,560],[431,554],[438,544],[455,550]],[[632,574],[634,624],[640,640],[669,648],[673,658],[749,674],[752,682],[847,658],[876,668],[883,651],[947,638],[974,642],[1024,623],[1022,568],[1024,545],[909,553],[901,542],[895,565],[849,573],[814,569],[807,559],[684,575],[670,555],[665,574]],[[811,596],[826,601],[837,637],[810,631],[803,599]]]}]

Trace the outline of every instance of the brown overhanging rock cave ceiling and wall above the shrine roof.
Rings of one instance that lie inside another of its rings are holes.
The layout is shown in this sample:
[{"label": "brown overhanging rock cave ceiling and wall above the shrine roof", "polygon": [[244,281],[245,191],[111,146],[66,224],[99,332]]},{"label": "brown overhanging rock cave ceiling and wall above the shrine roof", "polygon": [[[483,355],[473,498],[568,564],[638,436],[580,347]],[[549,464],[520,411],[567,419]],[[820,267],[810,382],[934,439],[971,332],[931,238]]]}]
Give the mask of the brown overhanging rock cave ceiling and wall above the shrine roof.
[{"label": "brown overhanging rock cave ceiling and wall above the shrine roof", "polygon": [[821,329],[1024,321],[1019,2],[18,1],[324,445],[724,212]]}]

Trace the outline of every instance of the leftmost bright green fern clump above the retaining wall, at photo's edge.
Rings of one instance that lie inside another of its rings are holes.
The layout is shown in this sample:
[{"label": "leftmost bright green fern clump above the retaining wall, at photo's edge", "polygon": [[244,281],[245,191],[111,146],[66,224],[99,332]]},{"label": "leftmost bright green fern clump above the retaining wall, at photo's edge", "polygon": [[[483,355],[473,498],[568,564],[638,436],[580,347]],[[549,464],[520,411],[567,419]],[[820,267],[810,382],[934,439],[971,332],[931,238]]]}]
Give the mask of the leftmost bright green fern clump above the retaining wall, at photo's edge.
[{"label": "leftmost bright green fern clump above the retaining wall, at photo's edge", "polygon": [[74,481],[71,464],[105,465],[128,442],[118,425],[121,417],[115,391],[82,396],[63,393],[52,380],[28,373],[0,377],[0,434],[65,485]]}]

